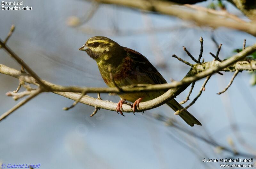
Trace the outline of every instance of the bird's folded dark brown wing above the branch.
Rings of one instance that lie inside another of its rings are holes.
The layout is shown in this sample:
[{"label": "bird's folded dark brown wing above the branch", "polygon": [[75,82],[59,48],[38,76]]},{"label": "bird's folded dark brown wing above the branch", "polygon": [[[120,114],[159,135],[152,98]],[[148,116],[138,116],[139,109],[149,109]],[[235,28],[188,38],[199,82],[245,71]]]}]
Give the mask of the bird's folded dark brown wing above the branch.
[{"label": "bird's folded dark brown wing above the branch", "polygon": [[142,83],[164,84],[167,83],[164,77],[148,61],[148,59],[137,51],[124,47],[127,57],[133,60],[133,71],[140,74]]}]

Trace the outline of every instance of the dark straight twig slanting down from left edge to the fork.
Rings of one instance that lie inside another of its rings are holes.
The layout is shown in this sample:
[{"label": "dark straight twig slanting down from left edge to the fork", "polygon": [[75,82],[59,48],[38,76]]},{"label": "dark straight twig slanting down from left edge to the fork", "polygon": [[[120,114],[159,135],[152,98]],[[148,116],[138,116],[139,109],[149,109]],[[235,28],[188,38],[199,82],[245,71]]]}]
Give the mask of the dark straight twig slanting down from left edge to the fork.
[{"label": "dark straight twig slanting down from left edge to the fork", "polygon": [[0,39],[0,45],[5,49],[7,53],[9,53],[12,56],[12,58],[14,58],[21,66],[23,66],[32,77],[35,78],[38,84],[40,84],[45,90],[51,91],[51,88],[45,85],[41,81],[39,76],[22,59],[20,59],[20,57],[16,53],[14,53],[8,46],[4,44],[2,39]]}]

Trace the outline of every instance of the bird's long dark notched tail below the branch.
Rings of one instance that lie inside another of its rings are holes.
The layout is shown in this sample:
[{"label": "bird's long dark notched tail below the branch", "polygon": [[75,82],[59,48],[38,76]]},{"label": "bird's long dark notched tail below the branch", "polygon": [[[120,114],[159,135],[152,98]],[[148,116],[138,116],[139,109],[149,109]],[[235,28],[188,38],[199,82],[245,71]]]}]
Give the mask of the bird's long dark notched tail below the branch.
[{"label": "bird's long dark notched tail below the branch", "polygon": [[[171,101],[167,102],[166,104],[168,104],[168,106],[170,106],[174,111],[183,109],[183,107],[174,99],[172,99]],[[180,112],[180,117],[186,122],[188,123],[190,126],[194,126],[194,124],[197,125],[202,125],[197,119],[196,117],[194,117],[192,114],[190,114],[187,110],[184,110],[182,112]]]}]

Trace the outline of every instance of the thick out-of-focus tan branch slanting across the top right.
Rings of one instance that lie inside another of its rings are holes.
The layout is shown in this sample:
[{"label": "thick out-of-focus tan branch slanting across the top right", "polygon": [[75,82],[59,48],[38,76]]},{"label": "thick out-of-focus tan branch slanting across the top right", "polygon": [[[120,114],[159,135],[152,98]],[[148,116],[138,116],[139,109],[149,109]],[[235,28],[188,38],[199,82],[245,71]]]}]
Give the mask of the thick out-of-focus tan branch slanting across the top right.
[{"label": "thick out-of-focus tan branch slanting across the top right", "polygon": [[[92,0],[87,0],[92,1]],[[93,0],[103,4],[116,4],[129,8],[135,8],[144,11],[153,11],[165,15],[171,15],[187,21],[194,21],[197,25],[210,26],[212,28],[227,27],[247,32],[256,36],[256,24],[253,22],[241,22],[229,17],[209,13],[203,10],[194,10],[184,6],[173,5],[173,2],[163,0]]]}]

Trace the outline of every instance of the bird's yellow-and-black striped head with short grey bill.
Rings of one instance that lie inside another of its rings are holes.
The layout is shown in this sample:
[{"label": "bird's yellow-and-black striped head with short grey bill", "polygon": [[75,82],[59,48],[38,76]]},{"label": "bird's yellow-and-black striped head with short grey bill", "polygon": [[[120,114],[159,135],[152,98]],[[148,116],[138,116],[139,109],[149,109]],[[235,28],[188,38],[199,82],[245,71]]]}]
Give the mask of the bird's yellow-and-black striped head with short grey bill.
[{"label": "bird's yellow-and-black striped head with short grey bill", "polygon": [[107,37],[95,36],[88,39],[78,50],[85,51],[92,59],[98,62],[115,57],[122,51],[122,46]]}]

